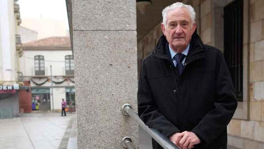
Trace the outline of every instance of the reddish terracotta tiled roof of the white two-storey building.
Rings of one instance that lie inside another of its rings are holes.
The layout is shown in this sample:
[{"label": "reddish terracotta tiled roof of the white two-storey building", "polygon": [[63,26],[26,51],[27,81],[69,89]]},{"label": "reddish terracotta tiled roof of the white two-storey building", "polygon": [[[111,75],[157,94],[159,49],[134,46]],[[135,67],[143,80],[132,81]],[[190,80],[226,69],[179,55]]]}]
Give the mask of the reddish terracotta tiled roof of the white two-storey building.
[{"label": "reddish terracotta tiled roof of the white two-storey building", "polygon": [[23,47],[67,47],[70,48],[70,37],[48,37],[40,40],[23,43]]}]

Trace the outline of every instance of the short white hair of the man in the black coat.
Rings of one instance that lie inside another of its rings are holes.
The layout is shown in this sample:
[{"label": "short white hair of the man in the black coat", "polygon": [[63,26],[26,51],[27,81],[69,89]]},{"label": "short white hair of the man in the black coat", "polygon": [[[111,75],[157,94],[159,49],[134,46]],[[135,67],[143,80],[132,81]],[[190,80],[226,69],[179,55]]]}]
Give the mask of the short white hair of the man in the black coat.
[{"label": "short white hair of the man in the black coat", "polygon": [[190,17],[191,17],[192,27],[193,27],[193,23],[195,22],[196,13],[191,5],[185,5],[181,2],[173,3],[172,5],[169,5],[162,10],[162,17],[163,17],[162,21],[163,21],[164,26],[166,26],[168,12],[176,8],[187,8],[188,9],[188,11],[190,12]]}]

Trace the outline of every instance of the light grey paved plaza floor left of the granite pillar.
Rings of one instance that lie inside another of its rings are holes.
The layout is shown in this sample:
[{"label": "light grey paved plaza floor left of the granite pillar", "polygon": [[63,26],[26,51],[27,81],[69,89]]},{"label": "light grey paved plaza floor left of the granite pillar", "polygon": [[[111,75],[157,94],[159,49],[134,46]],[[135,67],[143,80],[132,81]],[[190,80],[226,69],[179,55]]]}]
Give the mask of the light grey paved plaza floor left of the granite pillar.
[{"label": "light grey paved plaza floor left of the granite pillar", "polygon": [[75,149],[75,138],[75,113],[33,111],[0,119],[0,149]]}]

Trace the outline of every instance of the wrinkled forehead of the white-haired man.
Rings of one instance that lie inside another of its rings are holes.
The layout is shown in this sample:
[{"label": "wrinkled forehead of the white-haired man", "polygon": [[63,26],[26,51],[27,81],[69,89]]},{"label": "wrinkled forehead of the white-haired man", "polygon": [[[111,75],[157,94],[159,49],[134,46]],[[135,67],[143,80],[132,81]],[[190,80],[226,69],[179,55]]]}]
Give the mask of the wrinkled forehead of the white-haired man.
[{"label": "wrinkled forehead of the white-haired man", "polygon": [[175,8],[170,11],[168,11],[167,14],[167,21],[169,19],[176,18],[176,19],[184,19],[187,21],[191,21],[191,16],[188,8],[181,7],[181,8]]}]

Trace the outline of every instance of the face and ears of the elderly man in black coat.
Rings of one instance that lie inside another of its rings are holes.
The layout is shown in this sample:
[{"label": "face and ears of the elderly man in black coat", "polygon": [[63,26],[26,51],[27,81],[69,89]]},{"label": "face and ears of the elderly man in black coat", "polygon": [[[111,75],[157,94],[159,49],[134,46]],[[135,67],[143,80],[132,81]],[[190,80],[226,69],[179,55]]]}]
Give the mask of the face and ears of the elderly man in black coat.
[{"label": "face and ears of the elderly man in black coat", "polygon": [[181,53],[189,44],[196,23],[192,25],[187,8],[176,8],[168,12],[166,26],[161,23],[161,29],[171,48]]}]

